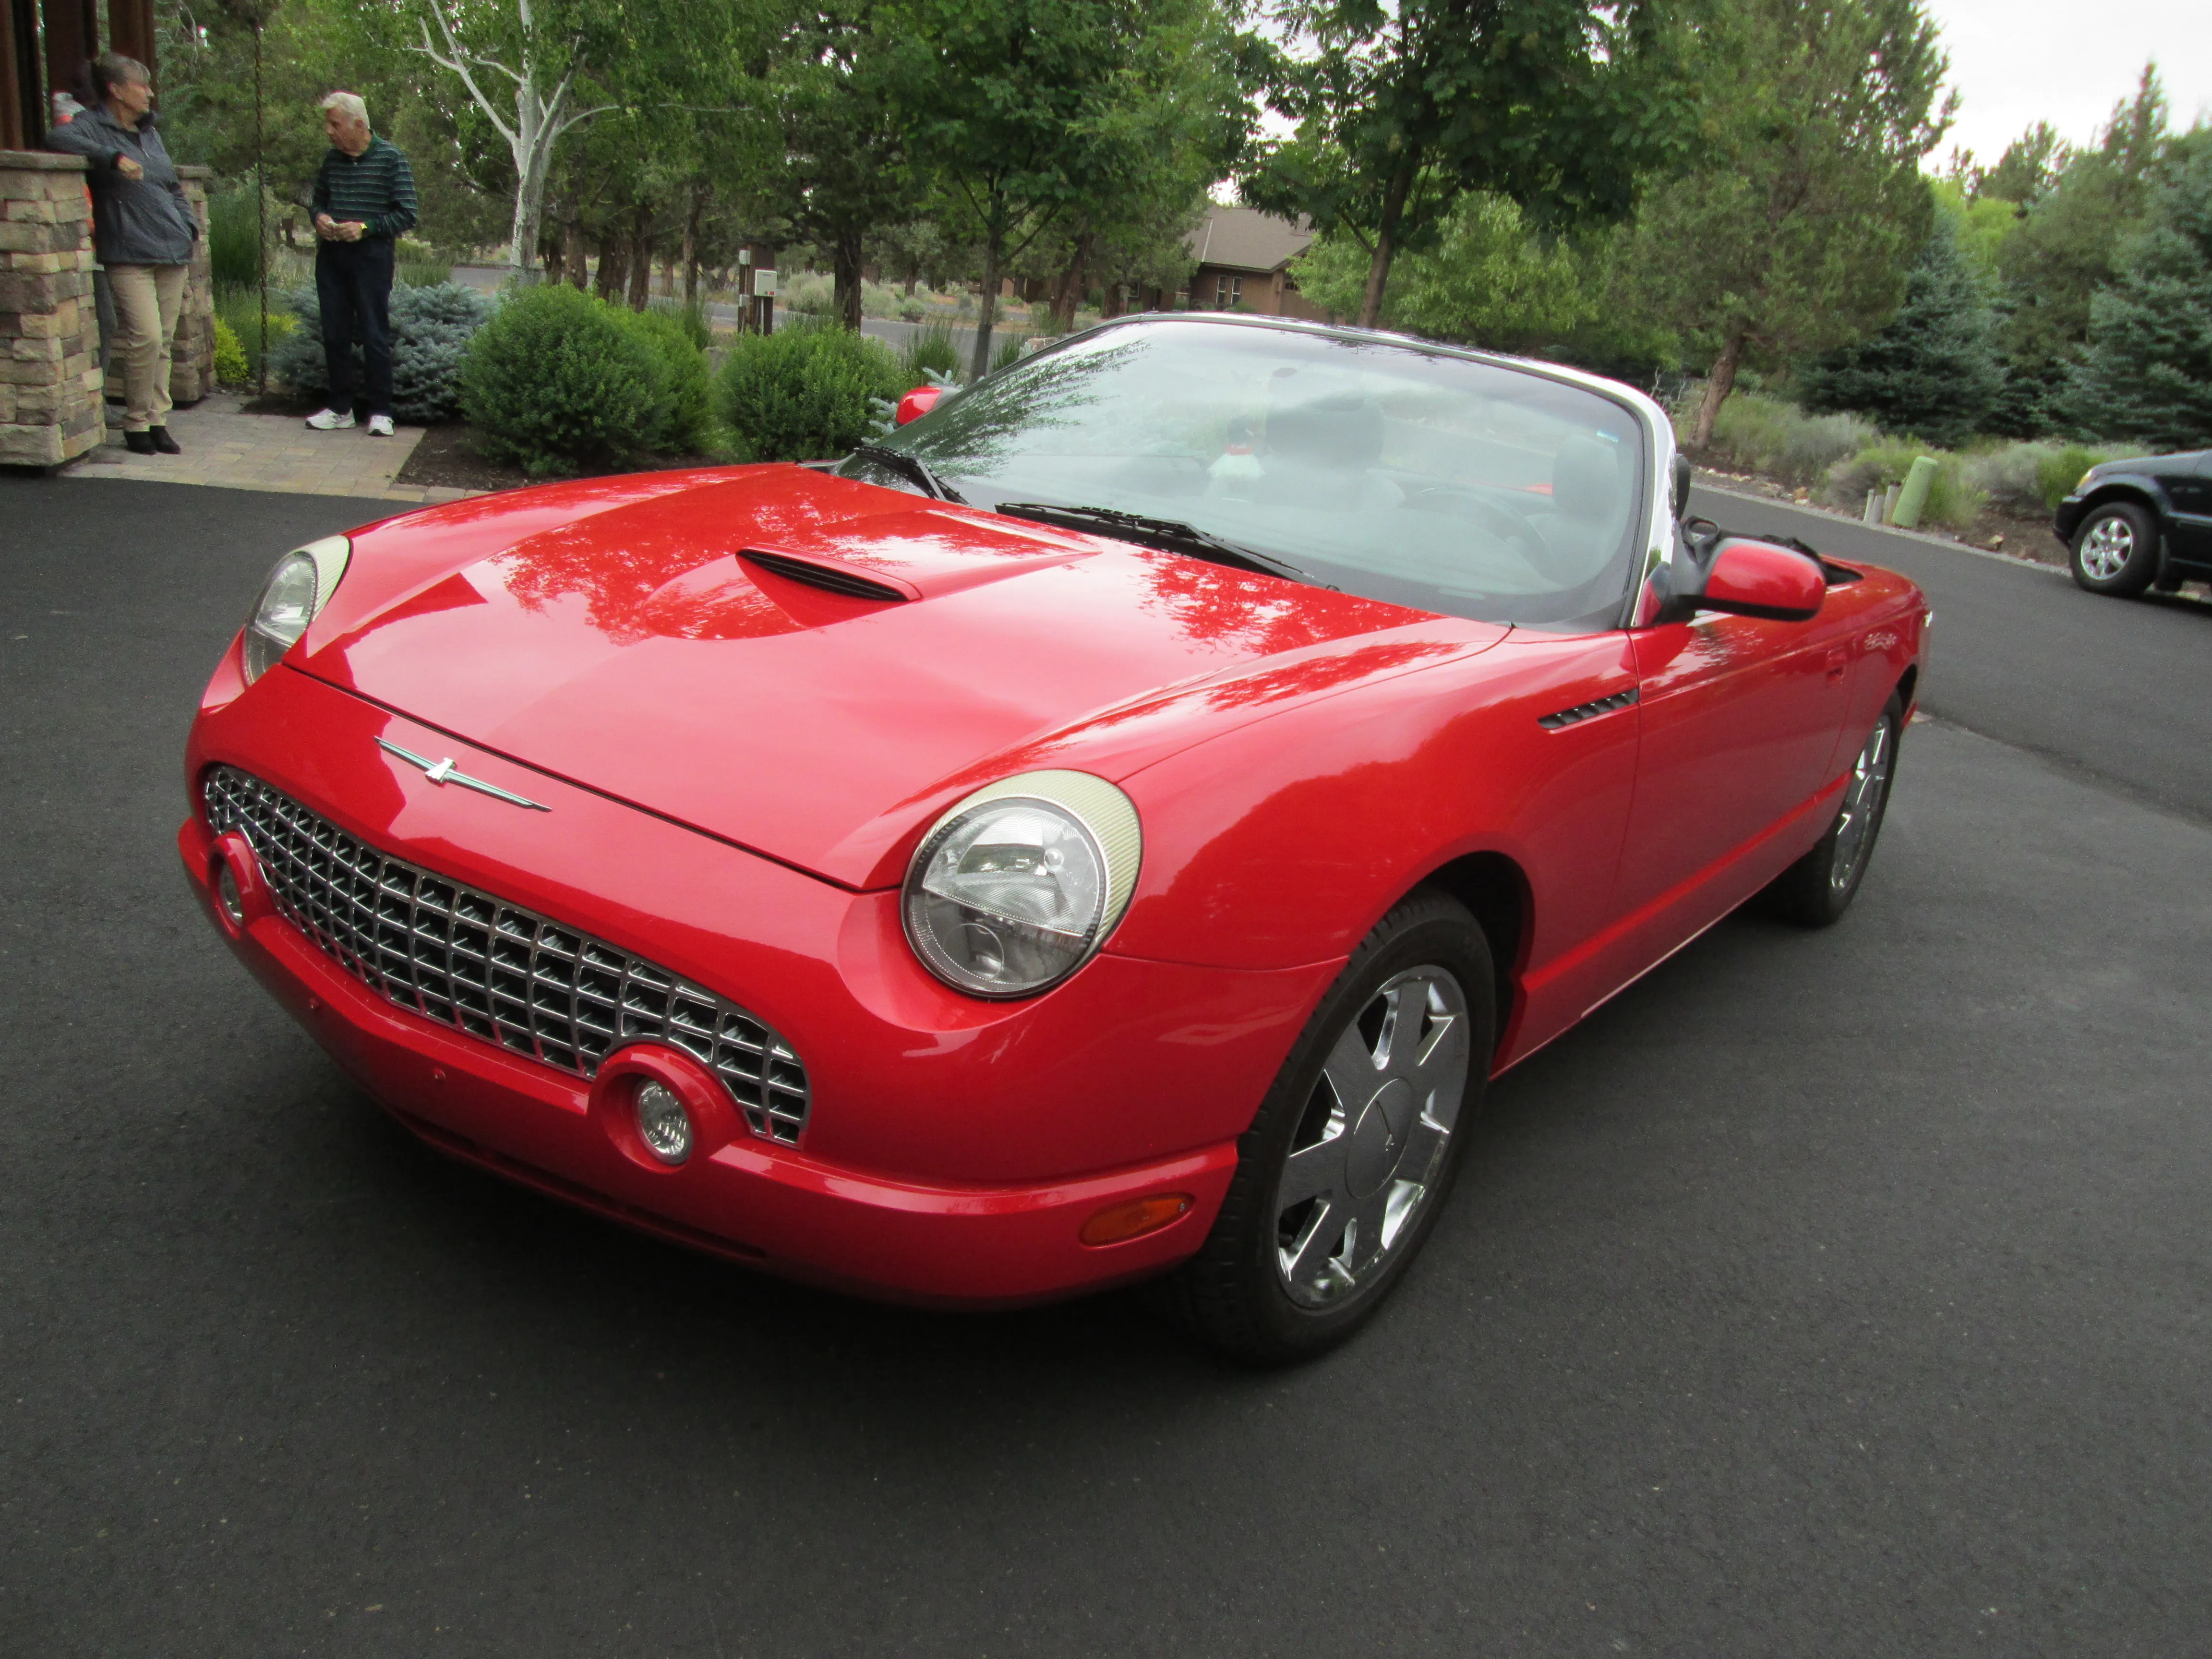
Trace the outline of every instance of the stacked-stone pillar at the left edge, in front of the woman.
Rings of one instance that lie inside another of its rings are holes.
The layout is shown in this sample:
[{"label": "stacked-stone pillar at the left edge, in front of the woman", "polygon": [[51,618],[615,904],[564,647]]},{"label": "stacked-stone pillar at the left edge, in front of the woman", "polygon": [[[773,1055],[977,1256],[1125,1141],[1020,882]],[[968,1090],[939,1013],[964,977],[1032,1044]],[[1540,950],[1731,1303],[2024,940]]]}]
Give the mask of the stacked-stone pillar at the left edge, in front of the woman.
[{"label": "stacked-stone pillar at the left edge, in front of the woman", "polygon": [[84,161],[0,150],[0,465],[60,467],[104,436]]}]

